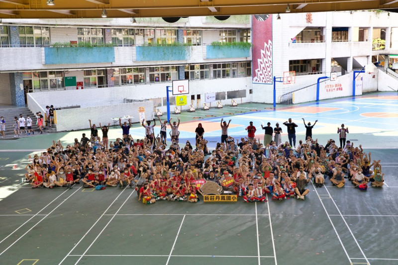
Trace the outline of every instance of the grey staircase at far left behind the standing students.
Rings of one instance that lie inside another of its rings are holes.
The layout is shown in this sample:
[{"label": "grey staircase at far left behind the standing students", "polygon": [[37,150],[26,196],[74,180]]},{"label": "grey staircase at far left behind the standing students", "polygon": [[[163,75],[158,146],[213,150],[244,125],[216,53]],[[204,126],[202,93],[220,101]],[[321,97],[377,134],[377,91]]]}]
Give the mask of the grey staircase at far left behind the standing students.
[{"label": "grey staircase at far left behind the standing students", "polygon": [[[4,117],[5,121],[5,138],[10,138],[13,137],[14,135],[14,117],[18,117],[19,119],[19,114],[22,114],[22,116],[26,119],[26,116],[29,114],[30,118],[32,119],[32,130],[35,130],[35,134],[38,133],[38,127],[36,125],[36,115],[33,114],[29,108],[27,107],[22,107],[22,108],[6,108],[6,109],[0,109],[0,116]],[[44,123],[45,125],[45,123]],[[55,126],[53,126],[55,127]],[[25,126],[25,129],[27,127]],[[52,133],[56,132],[56,128],[49,128],[46,127],[46,130],[44,130],[44,133]],[[25,132],[22,132],[21,136],[26,136]]]}]

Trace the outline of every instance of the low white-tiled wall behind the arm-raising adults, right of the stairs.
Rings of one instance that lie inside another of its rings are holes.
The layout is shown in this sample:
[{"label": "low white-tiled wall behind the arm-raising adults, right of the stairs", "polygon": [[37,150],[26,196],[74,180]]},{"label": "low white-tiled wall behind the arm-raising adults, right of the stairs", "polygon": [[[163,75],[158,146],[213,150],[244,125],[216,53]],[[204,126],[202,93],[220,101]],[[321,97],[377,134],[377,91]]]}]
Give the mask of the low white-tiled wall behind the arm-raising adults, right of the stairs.
[{"label": "low white-tiled wall behind the arm-raising adults, right of the stairs", "polygon": [[[57,131],[71,131],[86,129],[89,127],[89,119],[97,127],[101,125],[113,125],[113,119],[122,116],[131,116],[131,122],[139,122],[138,107],[145,107],[145,119],[151,120],[153,115],[153,102],[143,101],[124,103],[117,105],[101,105],[97,107],[61,109],[56,111]],[[117,124],[119,121],[117,120]]]}]

